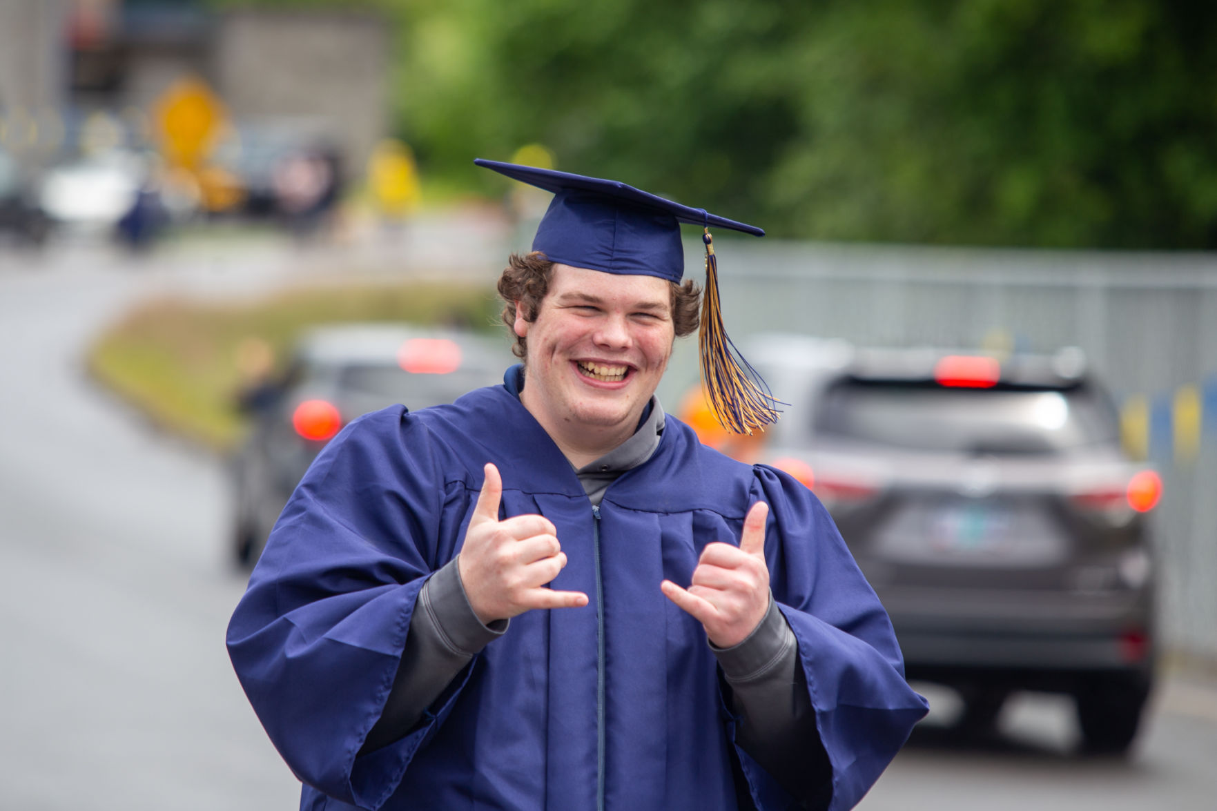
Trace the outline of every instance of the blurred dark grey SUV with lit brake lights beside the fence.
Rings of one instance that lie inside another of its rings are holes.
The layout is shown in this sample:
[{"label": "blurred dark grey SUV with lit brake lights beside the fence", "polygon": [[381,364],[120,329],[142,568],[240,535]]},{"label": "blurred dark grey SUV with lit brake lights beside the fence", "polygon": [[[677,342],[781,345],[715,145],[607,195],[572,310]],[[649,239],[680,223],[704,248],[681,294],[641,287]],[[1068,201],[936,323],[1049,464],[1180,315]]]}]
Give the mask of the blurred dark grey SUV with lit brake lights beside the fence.
[{"label": "blurred dark grey SUV with lit brake lights beside the fence", "polygon": [[1082,743],[1123,753],[1150,693],[1161,481],[1076,348],[998,360],[761,337],[745,354],[792,404],[761,460],[831,513],[896,627],[908,677],[961,723],[1006,697],[1075,698]]}]

